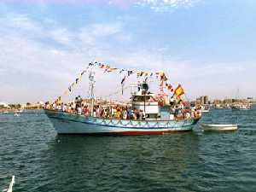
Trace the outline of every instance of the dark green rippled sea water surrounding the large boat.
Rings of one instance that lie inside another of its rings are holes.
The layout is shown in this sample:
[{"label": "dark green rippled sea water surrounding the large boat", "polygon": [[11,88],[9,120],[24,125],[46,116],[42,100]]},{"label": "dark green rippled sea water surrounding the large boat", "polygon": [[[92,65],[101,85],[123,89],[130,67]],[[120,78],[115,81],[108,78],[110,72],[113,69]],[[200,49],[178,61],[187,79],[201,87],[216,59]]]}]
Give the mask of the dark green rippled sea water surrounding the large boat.
[{"label": "dark green rippled sea water surrounding the large boat", "polygon": [[199,124],[232,132],[57,136],[43,111],[0,114],[0,191],[256,191],[256,107],[212,109]]}]

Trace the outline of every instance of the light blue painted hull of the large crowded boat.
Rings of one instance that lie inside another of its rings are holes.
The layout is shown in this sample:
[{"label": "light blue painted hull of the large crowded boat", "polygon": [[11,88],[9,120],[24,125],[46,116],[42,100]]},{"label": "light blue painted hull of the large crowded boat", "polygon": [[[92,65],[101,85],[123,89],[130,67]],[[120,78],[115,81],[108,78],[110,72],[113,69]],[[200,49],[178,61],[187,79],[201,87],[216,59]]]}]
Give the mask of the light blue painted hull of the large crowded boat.
[{"label": "light blue painted hull of the large crowded boat", "polygon": [[191,131],[199,119],[120,120],[85,117],[84,115],[44,110],[58,134],[86,135],[160,135]]}]

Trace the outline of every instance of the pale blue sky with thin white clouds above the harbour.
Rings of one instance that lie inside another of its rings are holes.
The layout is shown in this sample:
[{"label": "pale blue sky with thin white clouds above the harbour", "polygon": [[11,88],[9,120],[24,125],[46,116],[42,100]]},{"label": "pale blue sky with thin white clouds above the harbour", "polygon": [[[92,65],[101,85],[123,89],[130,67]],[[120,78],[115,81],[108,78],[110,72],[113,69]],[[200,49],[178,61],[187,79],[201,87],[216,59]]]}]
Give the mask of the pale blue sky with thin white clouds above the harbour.
[{"label": "pale blue sky with thin white clouds above the harbour", "polygon": [[[0,102],[52,101],[90,61],[163,70],[189,100],[256,97],[255,20],[254,0],[1,0]],[[96,73],[96,96],[121,79]]]}]

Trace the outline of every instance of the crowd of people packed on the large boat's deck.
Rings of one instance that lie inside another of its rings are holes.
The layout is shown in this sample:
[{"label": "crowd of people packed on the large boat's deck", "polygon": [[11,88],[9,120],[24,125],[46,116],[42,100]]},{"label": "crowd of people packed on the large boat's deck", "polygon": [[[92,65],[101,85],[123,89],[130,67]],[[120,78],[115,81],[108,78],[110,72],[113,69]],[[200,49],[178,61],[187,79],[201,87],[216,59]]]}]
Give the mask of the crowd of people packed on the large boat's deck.
[{"label": "crowd of people packed on the large boat's deck", "polygon": [[[129,108],[125,105],[102,106],[95,104],[93,108],[88,102],[84,102],[81,96],[77,96],[74,102],[64,103],[60,100],[54,103],[46,102],[44,108],[58,110],[65,113],[76,113],[84,116],[92,116],[104,119],[132,119],[143,120],[148,119],[143,110],[137,108]],[[170,119],[190,119],[201,117],[199,108],[187,108],[182,104],[177,104],[173,108],[170,107]],[[160,117],[159,117],[160,118]]]}]

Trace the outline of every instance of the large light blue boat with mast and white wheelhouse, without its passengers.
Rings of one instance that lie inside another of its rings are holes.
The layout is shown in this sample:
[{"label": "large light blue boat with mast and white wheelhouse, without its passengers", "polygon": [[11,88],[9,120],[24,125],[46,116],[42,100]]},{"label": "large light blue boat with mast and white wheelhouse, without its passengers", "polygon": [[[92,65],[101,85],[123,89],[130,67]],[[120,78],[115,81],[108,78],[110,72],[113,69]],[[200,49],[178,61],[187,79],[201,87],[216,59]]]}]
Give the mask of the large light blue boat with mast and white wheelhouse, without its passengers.
[{"label": "large light blue boat with mast and white wheelhouse, without its passengers", "polygon": [[[96,99],[94,97],[96,81],[95,73],[92,69],[90,70],[89,81],[90,97],[88,100],[90,100],[90,113],[88,115],[67,113],[60,108],[44,108],[44,113],[52,122],[57,134],[160,135],[192,131],[194,125],[201,119],[201,116],[174,119],[172,105],[170,104],[171,100],[163,92],[163,83],[160,86],[160,94],[154,95],[149,91],[146,80],[131,84],[131,101],[128,104],[130,106],[128,109],[129,114],[134,114],[135,111],[140,112],[142,114],[140,118],[118,119],[96,116],[94,111],[96,106]],[[180,91],[180,93],[182,94],[183,91]],[[180,102],[180,96],[178,96],[178,99]],[[126,108],[128,105],[126,105]]]}]

